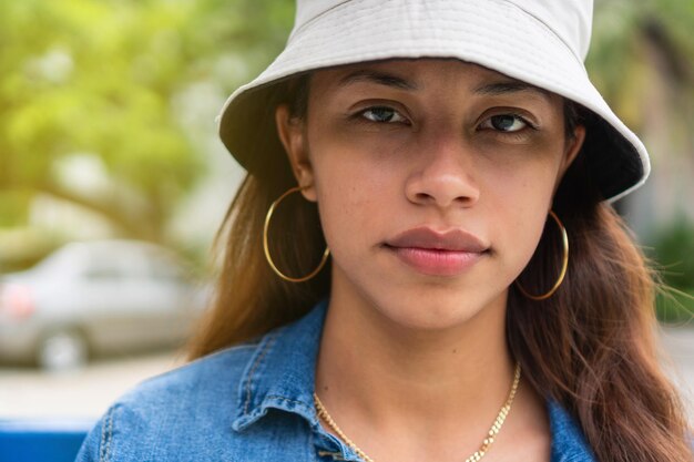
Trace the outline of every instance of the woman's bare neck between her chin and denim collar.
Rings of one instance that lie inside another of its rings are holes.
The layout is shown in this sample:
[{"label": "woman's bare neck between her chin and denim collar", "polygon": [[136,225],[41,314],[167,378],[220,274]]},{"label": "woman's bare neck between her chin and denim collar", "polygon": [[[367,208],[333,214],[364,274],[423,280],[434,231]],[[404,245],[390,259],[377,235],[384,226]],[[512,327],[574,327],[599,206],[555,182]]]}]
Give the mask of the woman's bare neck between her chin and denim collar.
[{"label": "woman's bare neck between her chin and denim collar", "polygon": [[388,455],[375,460],[398,460],[394,446],[416,453],[416,442],[429,460],[442,442],[457,451],[442,458],[477,450],[513,380],[506,298],[460,325],[416,329],[336,295],[334,287],[316,391],[343,431],[367,453],[386,452],[388,441]]}]

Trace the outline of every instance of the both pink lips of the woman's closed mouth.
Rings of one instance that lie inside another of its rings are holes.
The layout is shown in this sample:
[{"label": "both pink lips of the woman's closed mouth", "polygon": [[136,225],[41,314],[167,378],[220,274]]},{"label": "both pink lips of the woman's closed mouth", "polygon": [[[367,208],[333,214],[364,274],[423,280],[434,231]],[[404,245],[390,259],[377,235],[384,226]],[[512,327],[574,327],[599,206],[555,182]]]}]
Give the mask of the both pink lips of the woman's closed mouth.
[{"label": "both pink lips of the woman's closed mouth", "polygon": [[443,233],[429,227],[412,228],[384,246],[407,266],[430,276],[461,274],[489,251],[480,238],[459,228]]}]

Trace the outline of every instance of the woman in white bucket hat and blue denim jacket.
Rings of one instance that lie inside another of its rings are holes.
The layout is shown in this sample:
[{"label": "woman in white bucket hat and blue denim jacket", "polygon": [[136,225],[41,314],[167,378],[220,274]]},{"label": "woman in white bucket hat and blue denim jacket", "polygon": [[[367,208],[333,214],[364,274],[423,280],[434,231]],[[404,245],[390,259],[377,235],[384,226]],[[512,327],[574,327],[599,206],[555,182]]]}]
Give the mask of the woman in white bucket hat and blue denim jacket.
[{"label": "woman in white bucket hat and blue denim jacket", "polygon": [[299,1],[220,121],[248,176],[195,361],[79,460],[692,460],[609,204],[649,163],[584,73],[591,14]]}]

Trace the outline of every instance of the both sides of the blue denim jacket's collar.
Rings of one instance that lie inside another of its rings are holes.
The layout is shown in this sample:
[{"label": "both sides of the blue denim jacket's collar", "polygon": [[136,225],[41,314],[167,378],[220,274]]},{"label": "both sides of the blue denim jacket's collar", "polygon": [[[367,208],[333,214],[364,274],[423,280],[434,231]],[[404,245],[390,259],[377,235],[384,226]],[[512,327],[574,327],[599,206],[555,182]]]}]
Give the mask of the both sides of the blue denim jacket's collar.
[{"label": "both sides of the blue denim jacket's collar", "polygon": [[[258,422],[272,409],[296,413],[313,429],[320,428],[313,393],[327,304],[320,301],[304,318],[263,337],[239,383],[232,424],[235,431]],[[552,435],[551,462],[594,462],[574,419],[552,400],[548,400],[547,408]]]}]

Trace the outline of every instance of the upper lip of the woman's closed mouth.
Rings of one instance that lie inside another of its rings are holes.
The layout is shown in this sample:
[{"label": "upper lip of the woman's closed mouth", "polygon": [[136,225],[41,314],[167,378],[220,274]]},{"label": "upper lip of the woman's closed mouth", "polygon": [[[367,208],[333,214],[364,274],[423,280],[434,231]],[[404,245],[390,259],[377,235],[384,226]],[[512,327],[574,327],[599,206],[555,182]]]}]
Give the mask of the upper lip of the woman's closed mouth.
[{"label": "upper lip of the woman's closed mouth", "polygon": [[390,247],[412,247],[470,253],[482,253],[489,248],[479,237],[465,229],[456,228],[446,232],[437,232],[426,226],[407,229],[392,239],[386,240],[386,245]]}]

